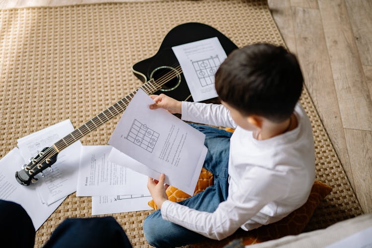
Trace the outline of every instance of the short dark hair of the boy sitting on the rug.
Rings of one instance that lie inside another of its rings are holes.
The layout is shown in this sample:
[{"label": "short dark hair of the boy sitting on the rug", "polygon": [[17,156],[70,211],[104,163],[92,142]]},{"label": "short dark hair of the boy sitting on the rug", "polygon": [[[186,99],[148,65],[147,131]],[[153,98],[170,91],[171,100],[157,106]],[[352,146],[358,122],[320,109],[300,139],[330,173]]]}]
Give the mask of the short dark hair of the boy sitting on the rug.
[{"label": "short dark hair of the boy sitting on the rug", "polygon": [[282,46],[254,44],[233,51],[215,75],[220,99],[243,115],[288,119],[303,87],[296,57]]}]

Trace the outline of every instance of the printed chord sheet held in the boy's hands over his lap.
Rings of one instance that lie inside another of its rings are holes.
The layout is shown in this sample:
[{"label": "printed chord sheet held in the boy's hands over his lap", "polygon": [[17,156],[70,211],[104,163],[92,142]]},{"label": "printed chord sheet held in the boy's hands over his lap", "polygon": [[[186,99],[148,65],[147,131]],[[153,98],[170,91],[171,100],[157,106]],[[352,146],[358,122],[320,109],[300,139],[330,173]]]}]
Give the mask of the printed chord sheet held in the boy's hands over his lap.
[{"label": "printed chord sheet held in the boy's hands over his lap", "polygon": [[[150,110],[153,103],[139,89],[109,144],[158,175],[164,173],[167,184],[192,195],[207,153],[205,135],[164,109]],[[133,170],[150,176],[147,170]]]}]

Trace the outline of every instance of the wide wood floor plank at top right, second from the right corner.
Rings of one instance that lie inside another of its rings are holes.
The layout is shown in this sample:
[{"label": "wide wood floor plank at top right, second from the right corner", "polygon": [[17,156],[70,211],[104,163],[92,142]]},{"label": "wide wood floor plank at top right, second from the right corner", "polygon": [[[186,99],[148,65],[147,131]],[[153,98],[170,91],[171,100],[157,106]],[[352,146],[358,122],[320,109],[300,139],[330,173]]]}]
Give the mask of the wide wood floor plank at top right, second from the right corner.
[{"label": "wide wood floor plank at top right, second from the right corner", "polygon": [[372,100],[343,0],[319,0],[333,80],[345,128],[372,130]]}]

